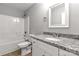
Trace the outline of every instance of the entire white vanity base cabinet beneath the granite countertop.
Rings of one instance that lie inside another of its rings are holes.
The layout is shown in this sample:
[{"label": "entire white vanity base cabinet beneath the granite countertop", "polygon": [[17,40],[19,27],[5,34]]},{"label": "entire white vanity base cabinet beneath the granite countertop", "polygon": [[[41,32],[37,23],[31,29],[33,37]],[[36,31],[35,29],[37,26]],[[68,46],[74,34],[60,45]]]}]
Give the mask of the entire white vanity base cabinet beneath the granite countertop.
[{"label": "entire white vanity base cabinet beneath the granite countertop", "polygon": [[77,56],[77,55],[32,38],[32,56]]}]

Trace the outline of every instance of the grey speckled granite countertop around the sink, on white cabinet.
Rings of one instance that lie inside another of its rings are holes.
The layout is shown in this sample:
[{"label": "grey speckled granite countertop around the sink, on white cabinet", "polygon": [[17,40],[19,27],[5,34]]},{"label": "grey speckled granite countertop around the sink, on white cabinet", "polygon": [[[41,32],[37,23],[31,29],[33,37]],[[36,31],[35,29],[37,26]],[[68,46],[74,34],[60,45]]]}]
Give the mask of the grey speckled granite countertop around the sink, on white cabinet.
[{"label": "grey speckled granite countertop around the sink, on white cabinet", "polygon": [[[42,35],[30,34],[30,36],[39,41],[55,46],[57,48],[79,55],[79,40],[62,38],[62,37],[53,37],[51,35],[43,35],[43,34]],[[56,39],[56,41],[48,40],[46,38],[53,38]]]}]

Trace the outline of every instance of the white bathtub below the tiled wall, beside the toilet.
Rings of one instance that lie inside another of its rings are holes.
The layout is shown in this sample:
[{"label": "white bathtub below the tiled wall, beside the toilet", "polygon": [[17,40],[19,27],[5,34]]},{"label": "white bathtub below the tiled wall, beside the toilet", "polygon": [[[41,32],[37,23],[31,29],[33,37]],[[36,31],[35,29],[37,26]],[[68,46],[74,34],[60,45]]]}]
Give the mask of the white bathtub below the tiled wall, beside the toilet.
[{"label": "white bathtub below the tiled wall, beside the toilet", "polygon": [[16,40],[6,43],[0,43],[0,56],[18,50],[19,47],[17,46],[17,44],[23,41],[24,40]]}]

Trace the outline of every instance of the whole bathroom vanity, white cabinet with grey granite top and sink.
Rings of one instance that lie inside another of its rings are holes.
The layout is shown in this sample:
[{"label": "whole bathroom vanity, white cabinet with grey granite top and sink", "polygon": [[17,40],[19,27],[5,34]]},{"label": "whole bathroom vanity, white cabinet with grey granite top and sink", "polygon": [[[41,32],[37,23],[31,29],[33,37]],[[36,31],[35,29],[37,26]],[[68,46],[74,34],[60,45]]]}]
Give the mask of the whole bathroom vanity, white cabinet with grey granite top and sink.
[{"label": "whole bathroom vanity, white cabinet with grey granite top and sink", "polygon": [[[78,56],[78,40],[55,38],[50,35],[30,35],[32,56]],[[49,39],[46,39],[49,38]],[[76,43],[74,43],[76,42]]]}]

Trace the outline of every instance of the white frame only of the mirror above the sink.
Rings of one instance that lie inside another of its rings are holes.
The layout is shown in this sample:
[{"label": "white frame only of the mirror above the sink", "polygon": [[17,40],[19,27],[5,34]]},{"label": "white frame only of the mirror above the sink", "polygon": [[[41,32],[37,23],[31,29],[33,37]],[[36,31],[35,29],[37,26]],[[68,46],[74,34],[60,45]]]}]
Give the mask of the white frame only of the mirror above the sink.
[{"label": "white frame only of the mirror above the sink", "polygon": [[[52,8],[55,8],[56,6],[59,6],[61,4],[64,4],[65,5],[65,25],[51,25],[51,9]],[[58,3],[58,4],[55,4],[51,7],[49,7],[49,28],[68,28],[69,27],[69,3]]]}]

